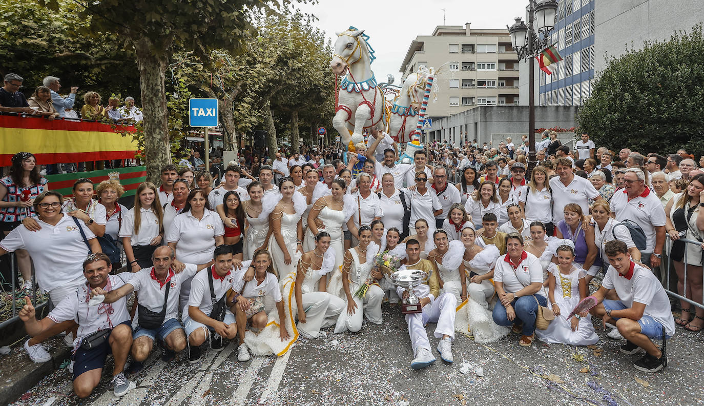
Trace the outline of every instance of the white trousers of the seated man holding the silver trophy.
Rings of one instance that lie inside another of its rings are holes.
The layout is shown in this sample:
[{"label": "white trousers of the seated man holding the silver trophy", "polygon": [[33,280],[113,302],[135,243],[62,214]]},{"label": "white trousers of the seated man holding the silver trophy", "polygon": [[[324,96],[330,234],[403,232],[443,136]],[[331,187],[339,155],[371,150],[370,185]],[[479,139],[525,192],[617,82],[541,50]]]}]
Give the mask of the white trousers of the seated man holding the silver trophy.
[{"label": "white trousers of the seated man holding the silver trophy", "polygon": [[[425,296],[422,296],[424,293],[422,287],[425,287]],[[403,297],[403,290],[403,288],[396,289],[396,293],[399,297]],[[414,293],[420,295],[419,297],[427,297],[429,289],[427,285],[420,285],[414,290]],[[410,346],[413,347],[414,358],[421,348],[432,351],[430,341],[428,340],[428,333],[425,331],[425,324],[427,324],[427,322],[437,323],[434,333],[436,338],[442,338],[442,336],[447,335],[450,337],[450,340],[455,340],[455,307],[457,307],[455,295],[442,293],[433,302],[425,305],[422,313],[406,314],[408,336],[410,337]]]}]

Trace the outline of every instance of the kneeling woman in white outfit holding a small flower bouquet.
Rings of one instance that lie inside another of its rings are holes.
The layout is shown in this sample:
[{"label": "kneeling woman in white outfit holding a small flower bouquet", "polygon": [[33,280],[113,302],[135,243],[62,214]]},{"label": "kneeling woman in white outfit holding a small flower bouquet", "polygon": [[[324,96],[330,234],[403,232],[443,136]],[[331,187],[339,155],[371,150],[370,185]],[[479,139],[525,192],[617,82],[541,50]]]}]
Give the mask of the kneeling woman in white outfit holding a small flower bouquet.
[{"label": "kneeling woman in white outfit holding a small flower bouquet", "polygon": [[360,331],[363,315],[374,324],[382,324],[382,299],[384,298],[382,288],[371,285],[363,298],[354,296],[358,288],[371,275],[372,263],[367,261],[367,249],[371,240],[371,228],[362,226],[359,229],[359,245],[345,252],[342,264],[342,286],[347,308],[337,319],[335,333]]}]

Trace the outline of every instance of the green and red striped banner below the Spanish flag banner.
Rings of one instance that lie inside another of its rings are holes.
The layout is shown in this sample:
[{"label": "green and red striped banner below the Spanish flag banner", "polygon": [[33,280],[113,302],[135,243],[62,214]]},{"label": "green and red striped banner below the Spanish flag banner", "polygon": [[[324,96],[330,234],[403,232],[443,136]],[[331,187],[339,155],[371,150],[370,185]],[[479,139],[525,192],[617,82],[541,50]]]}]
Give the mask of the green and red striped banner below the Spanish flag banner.
[{"label": "green and red striped banner below the Spanish flag banner", "polygon": [[73,183],[79,178],[88,178],[96,185],[103,180],[115,179],[120,181],[120,185],[125,187],[125,194],[122,197],[134,196],[135,190],[140,183],[146,180],[145,166],[131,166],[129,168],[105,169],[103,171],[62,173],[61,175],[49,175],[49,189],[56,190],[63,197],[73,197]]}]

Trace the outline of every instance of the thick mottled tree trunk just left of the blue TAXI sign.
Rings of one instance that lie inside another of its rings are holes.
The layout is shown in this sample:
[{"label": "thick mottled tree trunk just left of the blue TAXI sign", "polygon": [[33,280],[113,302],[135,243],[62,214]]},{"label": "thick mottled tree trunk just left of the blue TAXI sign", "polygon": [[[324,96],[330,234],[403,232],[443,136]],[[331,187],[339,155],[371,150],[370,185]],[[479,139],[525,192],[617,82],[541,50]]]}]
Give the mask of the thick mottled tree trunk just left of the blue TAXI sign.
[{"label": "thick mottled tree trunk just left of the blue TAXI sign", "polygon": [[146,37],[133,41],[133,44],[137,53],[139,84],[142,87],[146,180],[159,185],[161,184],[161,167],[171,163],[168,109],[166,108],[166,89],[164,86],[168,56],[154,54],[153,44]]}]

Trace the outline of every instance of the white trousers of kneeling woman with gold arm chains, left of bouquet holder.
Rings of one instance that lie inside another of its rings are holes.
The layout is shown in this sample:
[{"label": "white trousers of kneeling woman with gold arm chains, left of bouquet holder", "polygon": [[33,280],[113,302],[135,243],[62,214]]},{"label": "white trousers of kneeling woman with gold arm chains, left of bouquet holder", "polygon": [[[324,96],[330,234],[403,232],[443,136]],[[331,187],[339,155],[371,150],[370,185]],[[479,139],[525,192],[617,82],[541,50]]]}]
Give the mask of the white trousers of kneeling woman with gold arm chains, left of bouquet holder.
[{"label": "white trousers of kneeling woman with gold arm chains, left of bouquet holder", "polygon": [[296,324],[298,333],[306,338],[318,338],[320,328],[325,323],[332,326],[337,317],[345,310],[345,301],[327,292],[303,293],[303,310],[306,312],[306,322]]}]

